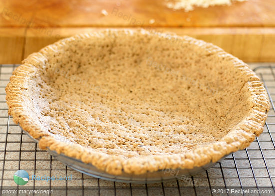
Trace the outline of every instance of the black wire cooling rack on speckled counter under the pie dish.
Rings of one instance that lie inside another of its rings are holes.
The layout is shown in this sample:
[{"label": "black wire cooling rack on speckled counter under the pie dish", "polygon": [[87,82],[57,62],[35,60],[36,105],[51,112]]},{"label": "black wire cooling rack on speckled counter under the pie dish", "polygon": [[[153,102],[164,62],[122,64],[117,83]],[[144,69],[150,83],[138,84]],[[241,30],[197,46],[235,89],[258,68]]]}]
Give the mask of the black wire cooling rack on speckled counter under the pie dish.
[{"label": "black wire cooling rack on speckled counter under the pie dish", "polygon": [[[272,107],[263,133],[248,148],[233,153],[207,171],[184,180],[155,184],[127,184],[90,177],[70,169],[46,151],[40,150],[7,114],[5,86],[17,66],[0,64],[0,196],[7,195],[4,192],[7,189],[22,187],[32,190],[54,189],[44,195],[60,196],[246,196],[249,195],[248,188],[256,191],[265,189],[265,192],[258,191],[255,196],[275,193],[275,107],[272,101],[275,100],[275,63],[250,65],[264,82],[271,100]],[[19,169],[27,171],[30,176],[25,186],[18,186],[13,181],[13,174]],[[38,181],[31,179],[33,174],[71,176],[72,180]],[[238,192],[232,193],[230,189]],[[269,192],[266,192],[267,189]],[[18,196],[20,193],[13,192],[10,195]]]}]

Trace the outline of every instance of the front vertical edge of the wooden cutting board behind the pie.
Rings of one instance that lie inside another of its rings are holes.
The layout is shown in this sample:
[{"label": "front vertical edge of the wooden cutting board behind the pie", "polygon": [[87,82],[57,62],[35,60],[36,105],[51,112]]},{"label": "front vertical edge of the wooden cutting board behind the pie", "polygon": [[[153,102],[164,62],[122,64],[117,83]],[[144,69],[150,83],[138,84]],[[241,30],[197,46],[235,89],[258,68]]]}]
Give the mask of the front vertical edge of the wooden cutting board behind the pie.
[{"label": "front vertical edge of the wooden cutting board behind the pie", "polygon": [[[106,28],[28,28],[15,32],[14,28],[0,31],[0,63],[20,63],[29,54],[55,41],[78,33],[88,33]],[[131,28],[132,29],[132,28]],[[173,32],[188,35],[220,46],[245,62],[275,62],[274,28],[147,28],[152,33]],[[23,44],[23,46],[22,46]],[[22,48],[23,47],[23,48]],[[14,48],[14,49],[12,49]],[[20,51],[23,50],[23,51]],[[16,52],[17,55],[14,55]],[[22,53],[23,52],[23,53]],[[18,58],[18,54],[22,57]]]}]

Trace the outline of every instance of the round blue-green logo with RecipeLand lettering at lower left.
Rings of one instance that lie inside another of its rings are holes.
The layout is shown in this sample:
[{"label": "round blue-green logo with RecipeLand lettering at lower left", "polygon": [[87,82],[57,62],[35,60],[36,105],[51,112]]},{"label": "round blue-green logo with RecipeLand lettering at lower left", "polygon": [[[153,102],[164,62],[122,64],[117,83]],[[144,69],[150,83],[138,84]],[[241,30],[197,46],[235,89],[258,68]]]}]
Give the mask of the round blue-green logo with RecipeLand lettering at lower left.
[{"label": "round blue-green logo with RecipeLand lettering at lower left", "polygon": [[[13,180],[17,185],[25,185],[29,181],[29,175],[25,170],[17,170],[13,175]],[[72,180],[72,175],[70,176],[37,176],[32,175],[32,180],[35,181],[61,181],[61,180]]]}]

